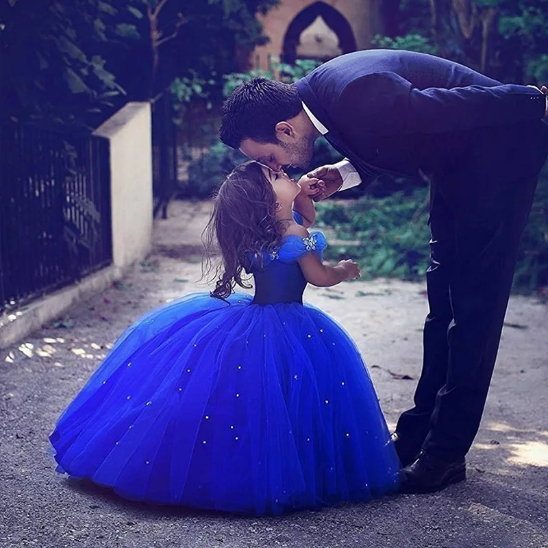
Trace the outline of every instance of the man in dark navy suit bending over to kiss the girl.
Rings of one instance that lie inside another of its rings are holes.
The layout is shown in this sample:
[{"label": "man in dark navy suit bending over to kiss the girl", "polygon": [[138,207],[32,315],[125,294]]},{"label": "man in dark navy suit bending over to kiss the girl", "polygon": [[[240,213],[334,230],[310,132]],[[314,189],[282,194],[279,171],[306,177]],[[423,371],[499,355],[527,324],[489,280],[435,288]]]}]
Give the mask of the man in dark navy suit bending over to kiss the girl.
[{"label": "man in dark navy suit bending over to kiss the girl", "polygon": [[423,369],[393,434],[406,492],[465,477],[548,153],[546,93],[431,55],[370,50],[295,84],[242,84],[223,105],[223,142],[275,171],[308,166],[325,136],[345,160],[310,173],[325,182],[320,199],[381,173],[429,175]]}]

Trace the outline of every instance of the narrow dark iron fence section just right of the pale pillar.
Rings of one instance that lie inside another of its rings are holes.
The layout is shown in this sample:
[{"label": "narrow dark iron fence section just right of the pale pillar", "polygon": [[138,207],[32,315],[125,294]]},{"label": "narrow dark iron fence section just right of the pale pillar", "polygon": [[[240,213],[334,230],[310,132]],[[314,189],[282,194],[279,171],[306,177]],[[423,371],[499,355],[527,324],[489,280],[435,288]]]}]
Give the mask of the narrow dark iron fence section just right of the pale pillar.
[{"label": "narrow dark iron fence section just right of the pale pillar", "polygon": [[177,125],[171,93],[166,90],[152,103],[153,214],[167,218],[167,206],[177,192]]}]

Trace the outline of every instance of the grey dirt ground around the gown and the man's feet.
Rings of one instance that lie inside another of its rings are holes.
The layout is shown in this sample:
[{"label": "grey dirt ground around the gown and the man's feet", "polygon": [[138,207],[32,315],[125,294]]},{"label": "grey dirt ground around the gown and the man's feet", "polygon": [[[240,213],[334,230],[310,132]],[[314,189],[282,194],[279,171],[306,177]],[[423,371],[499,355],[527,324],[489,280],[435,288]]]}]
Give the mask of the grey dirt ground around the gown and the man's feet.
[{"label": "grey dirt ground around the gown and the man's feet", "polygon": [[[469,478],[434,495],[242,518],[127,503],[53,471],[47,436],[116,336],[137,316],[206,290],[207,202],[175,202],[151,256],[0,362],[0,547],[548,548],[548,306],[512,297]],[[328,237],[329,242],[329,237]],[[412,404],[427,312],[424,284],[308,286],[305,299],[356,340],[390,427]]]}]

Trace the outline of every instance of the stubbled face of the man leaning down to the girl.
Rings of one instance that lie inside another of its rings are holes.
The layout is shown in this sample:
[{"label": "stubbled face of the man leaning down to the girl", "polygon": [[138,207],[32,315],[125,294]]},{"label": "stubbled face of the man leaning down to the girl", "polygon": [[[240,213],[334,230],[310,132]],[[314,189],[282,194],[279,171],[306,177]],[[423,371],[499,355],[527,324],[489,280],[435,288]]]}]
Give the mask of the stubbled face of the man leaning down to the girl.
[{"label": "stubbled face of the man leaning down to the girl", "polygon": [[306,169],[314,153],[314,139],[301,136],[277,143],[244,139],[240,151],[276,172],[284,166]]}]

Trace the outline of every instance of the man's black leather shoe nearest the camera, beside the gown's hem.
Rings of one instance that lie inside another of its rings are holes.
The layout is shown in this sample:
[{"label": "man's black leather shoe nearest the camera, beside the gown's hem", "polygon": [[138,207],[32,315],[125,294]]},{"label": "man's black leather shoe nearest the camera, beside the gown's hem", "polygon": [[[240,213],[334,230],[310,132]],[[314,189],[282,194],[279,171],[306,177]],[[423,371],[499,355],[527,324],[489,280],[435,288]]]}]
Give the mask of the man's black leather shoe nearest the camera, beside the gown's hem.
[{"label": "man's black leather shoe nearest the camera, beside the gown's hem", "polygon": [[432,493],[466,479],[464,458],[447,462],[425,451],[401,471],[401,493]]}]

